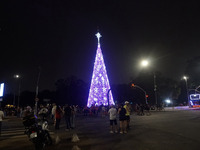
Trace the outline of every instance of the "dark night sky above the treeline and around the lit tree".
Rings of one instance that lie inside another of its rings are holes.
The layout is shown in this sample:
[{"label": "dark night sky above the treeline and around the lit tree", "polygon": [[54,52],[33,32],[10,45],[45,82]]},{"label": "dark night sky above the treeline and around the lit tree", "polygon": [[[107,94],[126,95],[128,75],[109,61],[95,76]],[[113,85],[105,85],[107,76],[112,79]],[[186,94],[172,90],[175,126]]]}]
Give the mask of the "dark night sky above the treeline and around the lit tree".
[{"label": "dark night sky above the treeline and around the lit tree", "polygon": [[[22,89],[54,89],[75,75],[90,83],[97,26],[111,84],[128,83],[141,58],[165,76],[180,78],[199,55],[200,8],[189,1],[2,0],[0,81],[23,75]],[[153,69],[152,69],[153,70]]]}]

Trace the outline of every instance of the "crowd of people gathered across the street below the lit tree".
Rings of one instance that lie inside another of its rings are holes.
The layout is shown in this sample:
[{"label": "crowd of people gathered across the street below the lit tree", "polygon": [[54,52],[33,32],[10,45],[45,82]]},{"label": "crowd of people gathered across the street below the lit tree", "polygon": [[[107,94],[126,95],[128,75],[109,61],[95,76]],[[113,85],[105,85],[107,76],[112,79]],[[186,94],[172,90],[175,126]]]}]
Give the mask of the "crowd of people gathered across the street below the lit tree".
[{"label": "crowd of people gathered across the street below the lit tree", "polygon": [[[59,130],[61,119],[65,121],[66,131],[74,129],[76,114],[82,114],[83,116],[109,116],[110,119],[110,133],[127,133],[130,128],[130,115],[132,112],[136,112],[137,115],[151,115],[150,106],[145,105],[131,105],[128,101],[119,105],[111,105],[110,107],[100,105],[91,107],[80,107],[75,105],[65,104],[64,106],[56,105],[56,103],[48,105],[40,105],[37,110],[34,107],[26,106],[24,108],[6,108],[4,111],[0,111],[0,127],[3,120],[3,116],[14,115],[19,118],[26,117],[31,114],[36,114],[41,119],[46,119],[49,123],[54,124],[55,130]],[[2,116],[2,117],[1,117]],[[118,118],[118,119],[117,119]],[[119,127],[117,125],[119,120]]]}]

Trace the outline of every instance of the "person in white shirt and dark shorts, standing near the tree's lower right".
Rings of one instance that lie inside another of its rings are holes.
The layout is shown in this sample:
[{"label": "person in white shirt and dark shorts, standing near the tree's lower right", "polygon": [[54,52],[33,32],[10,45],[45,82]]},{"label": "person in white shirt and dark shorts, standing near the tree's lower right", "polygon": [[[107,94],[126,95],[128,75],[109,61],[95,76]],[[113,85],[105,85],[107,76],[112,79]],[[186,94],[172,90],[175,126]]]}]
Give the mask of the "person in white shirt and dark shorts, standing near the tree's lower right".
[{"label": "person in white shirt and dark shorts, standing near the tree's lower right", "polygon": [[110,133],[117,133],[117,109],[114,105],[108,110],[108,114],[110,116]]}]

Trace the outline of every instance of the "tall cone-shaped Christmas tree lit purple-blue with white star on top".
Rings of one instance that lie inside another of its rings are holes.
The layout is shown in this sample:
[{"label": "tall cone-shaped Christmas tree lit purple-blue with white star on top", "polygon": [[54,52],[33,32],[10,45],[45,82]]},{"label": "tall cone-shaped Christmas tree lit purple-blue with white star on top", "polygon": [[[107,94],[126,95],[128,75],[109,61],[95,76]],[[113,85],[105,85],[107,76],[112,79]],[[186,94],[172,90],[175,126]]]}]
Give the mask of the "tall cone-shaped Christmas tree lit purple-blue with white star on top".
[{"label": "tall cone-shaped Christmas tree lit purple-blue with white star on top", "polygon": [[103,54],[100,47],[100,37],[102,36],[98,32],[96,37],[98,39],[98,47],[94,62],[87,106],[91,107],[92,105],[108,105],[108,99],[109,105],[115,105],[112,92],[110,90],[110,84],[106,72]]}]

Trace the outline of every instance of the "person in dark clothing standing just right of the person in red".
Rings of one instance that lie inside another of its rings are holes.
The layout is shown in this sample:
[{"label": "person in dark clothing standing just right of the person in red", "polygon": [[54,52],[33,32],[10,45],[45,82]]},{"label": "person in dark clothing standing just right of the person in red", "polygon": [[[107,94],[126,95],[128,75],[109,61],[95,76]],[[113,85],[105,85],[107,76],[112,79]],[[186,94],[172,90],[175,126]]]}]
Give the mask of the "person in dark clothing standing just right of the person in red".
[{"label": "person in dark clothing standing just right of the person in red", "polygon": [[72,109],[68,104],[65,105],[64,108],[64,117],[66,122],[66,131],[68,131],[71,128],[71,115],[72,115]]}]

